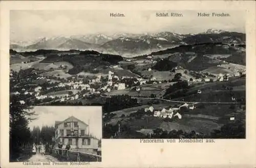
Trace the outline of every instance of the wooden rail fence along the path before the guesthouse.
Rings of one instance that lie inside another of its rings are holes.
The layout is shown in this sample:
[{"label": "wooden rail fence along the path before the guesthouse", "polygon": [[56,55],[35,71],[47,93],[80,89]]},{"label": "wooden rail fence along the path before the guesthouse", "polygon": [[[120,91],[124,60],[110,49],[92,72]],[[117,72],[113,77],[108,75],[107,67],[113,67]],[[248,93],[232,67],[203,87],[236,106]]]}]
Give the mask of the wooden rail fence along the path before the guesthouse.
[{"label": "wooden rail fence along the path before the guesthouse", "polygon": [[66,149],[54,149],[54,154],[64,161],[87,161],[87,162],[94,162],[94,161],[101,161],[101,156],[87,153],[87,152],[80,152],[80,151],[70,151]]}]

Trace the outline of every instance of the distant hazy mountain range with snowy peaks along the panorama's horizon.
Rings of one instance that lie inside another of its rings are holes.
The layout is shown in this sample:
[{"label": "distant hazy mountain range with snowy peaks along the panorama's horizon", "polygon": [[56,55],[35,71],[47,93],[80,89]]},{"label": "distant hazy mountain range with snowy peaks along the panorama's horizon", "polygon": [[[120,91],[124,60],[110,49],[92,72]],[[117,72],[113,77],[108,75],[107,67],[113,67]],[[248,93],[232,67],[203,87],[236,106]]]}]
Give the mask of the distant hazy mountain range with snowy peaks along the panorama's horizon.
[{"label": "distant hazy mountain range with snowy peaks along the panorama's horizon", "polygon": [[[95,50],[101,53],[118,54],[134,57],[181,44],[209,42],[245,43],[245,34],[223,30],[208,29],[198,34],[177,34],[172,32],[129,34],[120,33],[112,36],[104,34],[57,36],[41,38],[34,42],[10,42],[10,49],[16,51],[45,50]],[[27,44],[27,45],[26,45]]]}]

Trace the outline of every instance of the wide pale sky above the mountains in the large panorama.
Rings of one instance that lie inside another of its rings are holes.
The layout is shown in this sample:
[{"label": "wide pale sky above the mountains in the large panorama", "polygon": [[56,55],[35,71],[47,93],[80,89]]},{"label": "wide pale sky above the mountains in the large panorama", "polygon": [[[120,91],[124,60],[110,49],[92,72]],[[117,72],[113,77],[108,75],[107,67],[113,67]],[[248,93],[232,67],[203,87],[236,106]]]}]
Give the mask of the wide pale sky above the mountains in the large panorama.
[{"label": "wide pale sky above the mountains in the large panorama", "polygon": [[[245,33],[245,13],[228,11],[230,17],[198,17],[198,12],[222,11],[116,11],[125,17],[110,17],[112,11],[95,10],[12,10],[11,41],[41,37],[86,34],[154,33],[170,31],[179,34],[222,29]],[[156,17],[156,12],[179,12],[183,17]]]}]

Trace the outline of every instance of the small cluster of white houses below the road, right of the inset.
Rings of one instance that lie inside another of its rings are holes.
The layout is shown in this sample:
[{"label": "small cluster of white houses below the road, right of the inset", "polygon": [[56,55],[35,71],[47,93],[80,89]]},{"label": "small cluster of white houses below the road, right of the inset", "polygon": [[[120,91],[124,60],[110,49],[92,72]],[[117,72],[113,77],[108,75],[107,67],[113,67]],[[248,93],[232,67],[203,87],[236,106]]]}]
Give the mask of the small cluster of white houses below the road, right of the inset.
[{"label": "small cluster of white houses below the road, right of the inset", "polygon": [[145,108],[144,111],[145,112],[154,112],[153,116],[155,117],[161,117],[161,118],[173,118],[173,117],[178,117],[179,119],[182,118],[182,115],[179,113],[179,110],[181,107],[186,107],[190,110],[194,110],[196,107],[193,104],[183,104],[180,107],[170,107],[170,108],[162,108],[160,110],[158,109],[154,109],[153,106],[149,107],[149,108]]}]

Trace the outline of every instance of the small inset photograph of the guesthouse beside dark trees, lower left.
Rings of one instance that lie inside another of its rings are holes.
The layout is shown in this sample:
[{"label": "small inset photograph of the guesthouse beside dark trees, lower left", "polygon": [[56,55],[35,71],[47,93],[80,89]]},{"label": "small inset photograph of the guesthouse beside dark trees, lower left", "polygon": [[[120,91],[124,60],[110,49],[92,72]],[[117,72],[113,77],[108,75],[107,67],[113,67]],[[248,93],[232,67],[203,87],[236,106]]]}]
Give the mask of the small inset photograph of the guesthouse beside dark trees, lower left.
[{"label": "small inset photograph of the guesthouse beside dark trees, lower left", "polygon": [[101,161],[100,106],[10,107],[10,162]]}]

